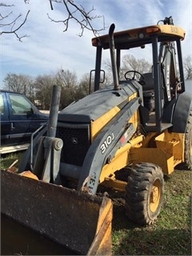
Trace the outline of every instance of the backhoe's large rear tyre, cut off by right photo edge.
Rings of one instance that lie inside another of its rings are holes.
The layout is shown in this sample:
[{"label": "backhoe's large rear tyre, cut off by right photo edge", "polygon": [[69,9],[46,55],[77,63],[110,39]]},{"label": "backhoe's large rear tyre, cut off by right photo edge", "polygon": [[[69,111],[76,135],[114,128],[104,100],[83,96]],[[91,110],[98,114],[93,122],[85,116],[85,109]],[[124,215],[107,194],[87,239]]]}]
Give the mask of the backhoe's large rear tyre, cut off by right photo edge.
[{"label": "backhoe's large rear tyre, cut off by right photo edge", "polygon": [[185,160],[187,167],[192,170],[192,110],[186,124]]}]

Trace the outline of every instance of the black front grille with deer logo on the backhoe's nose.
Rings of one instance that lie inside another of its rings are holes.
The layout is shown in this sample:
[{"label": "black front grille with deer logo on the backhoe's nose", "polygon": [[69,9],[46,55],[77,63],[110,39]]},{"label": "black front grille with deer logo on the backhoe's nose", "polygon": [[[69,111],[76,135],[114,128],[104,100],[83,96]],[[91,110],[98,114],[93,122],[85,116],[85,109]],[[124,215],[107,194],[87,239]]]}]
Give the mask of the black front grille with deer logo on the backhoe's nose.
[{"label": "black front grille with deer logo on the backhoe's nose", "polygon": [[57,138],[62,138],[61,162],[82,166],[90,146],[90,133],[86,127],[57,127]]}]

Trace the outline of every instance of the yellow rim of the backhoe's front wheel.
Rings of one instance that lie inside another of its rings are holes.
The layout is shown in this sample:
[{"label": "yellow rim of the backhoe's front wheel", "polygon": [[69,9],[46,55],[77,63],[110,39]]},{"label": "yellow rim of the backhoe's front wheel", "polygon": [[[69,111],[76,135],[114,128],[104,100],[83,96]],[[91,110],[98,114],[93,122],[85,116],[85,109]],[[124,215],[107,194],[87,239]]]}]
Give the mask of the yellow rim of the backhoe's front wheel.
[{"label": "yellow rim of the backhoe's front wheel", "polygon": [[161,198],[162,186],[159,180],[156,180],[150,190],[150,210],[155,212],[158,209]]}]

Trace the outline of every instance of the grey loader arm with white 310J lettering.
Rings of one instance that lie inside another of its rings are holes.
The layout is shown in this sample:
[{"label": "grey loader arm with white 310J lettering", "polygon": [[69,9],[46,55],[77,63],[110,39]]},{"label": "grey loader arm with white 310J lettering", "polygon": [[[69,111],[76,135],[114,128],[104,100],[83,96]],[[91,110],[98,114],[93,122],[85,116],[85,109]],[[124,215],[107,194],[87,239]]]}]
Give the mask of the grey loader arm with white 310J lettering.
[{"label": "grey loader arm with white 310J lettering", "polygon": [[128,102],[95,138],[83,162],[78,190],[86,190],[89,194],[96,193],[102,167],[107,161],[111,161],[118,148],[124,146],[124,143],[135,133],[135,128],[129,120],[138,110],[140,102],[140,98],[134,98]]}]

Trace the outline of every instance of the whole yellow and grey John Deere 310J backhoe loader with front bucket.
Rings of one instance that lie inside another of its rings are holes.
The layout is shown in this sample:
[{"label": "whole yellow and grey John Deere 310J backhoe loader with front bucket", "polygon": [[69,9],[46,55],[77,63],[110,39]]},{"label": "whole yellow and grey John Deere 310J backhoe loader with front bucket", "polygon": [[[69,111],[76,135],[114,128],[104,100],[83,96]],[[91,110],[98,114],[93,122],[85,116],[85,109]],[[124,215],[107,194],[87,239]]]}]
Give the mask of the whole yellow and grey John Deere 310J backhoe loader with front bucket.
[{"label": "whole yellow and grey John Deere 310J backhoe loader with front bucket", "polygon": [[[2,170],[2,213],[78,254],[111,254],[112,201],[98,193],[100,186],[125,191],[127,221],[147,225],[161,210],[163,175],[182,162],[192,170],[185,31],[171,17],[154,26],[114,28],[92,39],[94,92],[58,114],[55,86],[48,126],[33,135],[18,174]],[[107,50],[113,83],[103,87]],[[131,50],[146,50],[151,69],[126,70],[121,78],[121,56]]]}]

